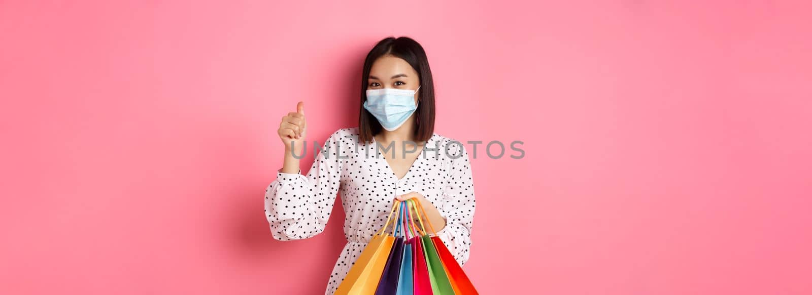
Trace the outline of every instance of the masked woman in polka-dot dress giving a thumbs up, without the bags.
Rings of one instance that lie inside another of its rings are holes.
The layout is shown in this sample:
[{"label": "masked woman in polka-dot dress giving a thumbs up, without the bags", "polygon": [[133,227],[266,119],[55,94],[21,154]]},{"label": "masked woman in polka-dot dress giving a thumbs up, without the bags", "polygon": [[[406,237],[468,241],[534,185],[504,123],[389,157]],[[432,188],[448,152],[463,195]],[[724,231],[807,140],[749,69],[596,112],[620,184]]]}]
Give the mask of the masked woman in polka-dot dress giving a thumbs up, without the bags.
[{"label": "masked woman in polka-dot dress giving a thumbs up, without the bags", "polygon": [[389,37],[375,45],[364,62],[360,105],[358,126],[330,135],[304,176],[297,157],[307,123],[299,102],[279,124],[285,158],[266,190],[270,232],[280,241],[322,233],[341,192],[348,242],[325,294],[335,292],[382,228],[394,199],[421,202],[423,218],[457,262],[469,259],[475,205],[469,156],[461,143],[434,133],[434,82],[417,41]]}]

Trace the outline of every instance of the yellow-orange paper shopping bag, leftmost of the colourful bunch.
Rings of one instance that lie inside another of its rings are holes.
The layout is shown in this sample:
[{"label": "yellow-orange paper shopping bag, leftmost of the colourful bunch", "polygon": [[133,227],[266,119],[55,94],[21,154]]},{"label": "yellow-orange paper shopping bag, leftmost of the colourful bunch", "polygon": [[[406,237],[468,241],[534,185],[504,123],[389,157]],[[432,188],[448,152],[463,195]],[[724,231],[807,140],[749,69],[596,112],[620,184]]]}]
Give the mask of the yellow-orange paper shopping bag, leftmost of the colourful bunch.
[{"label": "yellow-orange paper shopping bag, leftmost of the colourful bunch", "polygon": [[358,259],[347,272],[347,276],[344,276],[339,288],[335,290],[335,295],[375,293],[383,268],[386,267],[389,253],[392,246],[395,245],[395,237],[387,233],[386,229],[389,227],[392,214],[399,205],[400,201],[395,200],[389,217],[387,217],[387,223],[383,224],[383,227],[373,235],[369,244],[361,251]]}]

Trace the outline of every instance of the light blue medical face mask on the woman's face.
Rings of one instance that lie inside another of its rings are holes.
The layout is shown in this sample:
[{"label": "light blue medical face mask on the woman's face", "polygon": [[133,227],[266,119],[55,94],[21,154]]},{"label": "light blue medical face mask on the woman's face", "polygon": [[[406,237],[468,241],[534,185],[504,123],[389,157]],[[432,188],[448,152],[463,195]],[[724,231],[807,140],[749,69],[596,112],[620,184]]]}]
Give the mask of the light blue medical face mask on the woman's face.
[{"label": "light blue medical face mask on the woman's face", "polygon": [[[420,89],[420,86],[417,89]],[[366,91],[364,109],[378,119],[383,129],[396,130],[404,125],[406,119],[417,109],[414,103],[417,89],[369,89]]]}]

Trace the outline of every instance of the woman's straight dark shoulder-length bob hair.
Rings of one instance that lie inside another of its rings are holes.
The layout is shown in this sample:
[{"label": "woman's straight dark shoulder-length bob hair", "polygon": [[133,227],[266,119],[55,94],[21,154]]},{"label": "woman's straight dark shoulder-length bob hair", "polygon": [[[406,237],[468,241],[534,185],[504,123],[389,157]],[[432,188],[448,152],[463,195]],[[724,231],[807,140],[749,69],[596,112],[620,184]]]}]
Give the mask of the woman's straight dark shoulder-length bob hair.
[{"label": "woman's straight dark shoulder-length bob hair", "polygon": [[364,109],[364,102],[366,101],[366,88],[369,85],[369,71],[372,64],[383,55],[393,55],[408,62],[412,68],[420,75],[420,96],[417,100],[420,104],[414,111],[417,116],[417,128],[415,128],[415,141],[421,142],[431,138],[434,134],[434,79],[431,77],[431,69],[429,68],[429,59],[425,57],[425,51],[417,41],[412,38],[402,36],[399,38],[387,37],[379,41],[369,54],[366,55],[364,61],[364,71],[361,75],[361,108],[358,113],[358,140],[361,143],[369,143],[372,137],[381,132],[383,127],[377,119]]}]

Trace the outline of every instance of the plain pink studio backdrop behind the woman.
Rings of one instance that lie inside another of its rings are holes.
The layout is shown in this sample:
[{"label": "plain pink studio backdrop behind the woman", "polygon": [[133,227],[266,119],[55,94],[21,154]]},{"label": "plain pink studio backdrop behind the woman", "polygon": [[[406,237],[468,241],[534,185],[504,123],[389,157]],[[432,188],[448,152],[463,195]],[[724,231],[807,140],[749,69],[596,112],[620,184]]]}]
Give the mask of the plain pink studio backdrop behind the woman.
[{"label": "plain pink studio backdrop behind the woman", "polygon": [[810,2],[536,3],[0,2],[0,293],[323,293],[275,130],[354,126],[386,36],[439,134],[525,142],[473,161],[483,294],[812,293]]}]

